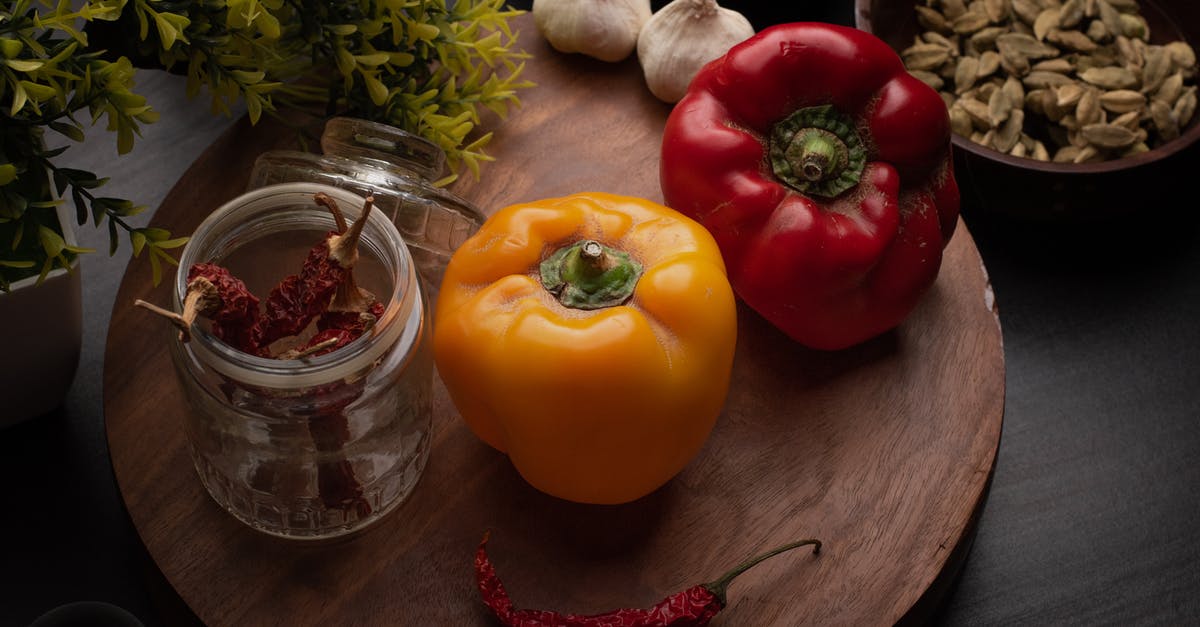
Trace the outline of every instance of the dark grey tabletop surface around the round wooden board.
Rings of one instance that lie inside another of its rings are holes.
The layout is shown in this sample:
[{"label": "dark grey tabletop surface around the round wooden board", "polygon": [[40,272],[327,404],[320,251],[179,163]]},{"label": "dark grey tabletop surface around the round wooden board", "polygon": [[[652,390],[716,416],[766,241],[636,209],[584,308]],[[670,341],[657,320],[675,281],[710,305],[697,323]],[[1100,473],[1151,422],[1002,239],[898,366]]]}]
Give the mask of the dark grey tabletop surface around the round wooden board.
[{"label": "dark grey tabletop surface around the round wooden board", "polygon": [[[853,19],[848,0],[724,6],[760,29]],[[113,177],[107,195],[156,207],[232,120],[209,114],[203,97],[186,100],[179,77],[138,76],[162,121],[120,160],[100,130],[67,155]],[[1183,159],[1200,167],[1194,151]],[[1200,207],[1190,183],[1147,189],[1127,213],[1086,226],[965,205],[1000,307],[1007,395],[988,503],[937,623],[1200,622]],[[80,237],[107,247],[100,231]],[[79,601],[125,608],[148,626],[186,617],[126,516],[108,459],[104,336],[126,256],[83,262],[86,338],[65,405],[0,430],[0,626]]]}]

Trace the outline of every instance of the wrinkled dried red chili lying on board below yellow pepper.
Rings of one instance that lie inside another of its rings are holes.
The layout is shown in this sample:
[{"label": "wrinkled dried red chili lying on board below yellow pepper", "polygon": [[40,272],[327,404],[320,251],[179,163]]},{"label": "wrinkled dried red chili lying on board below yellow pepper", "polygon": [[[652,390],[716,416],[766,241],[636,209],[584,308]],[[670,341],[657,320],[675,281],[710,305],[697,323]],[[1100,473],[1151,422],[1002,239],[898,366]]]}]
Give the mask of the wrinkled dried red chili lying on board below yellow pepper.
[{"label": "wrinkled dried red chili lying on board below yellow pepper", "polygon": [[812,545],[821,551],[821,541],[803,539],[785,544],[733,567],[716,580],[676,592],[650,608],[625,608],[604,614],[559,614],[550,610],[515,609],[496,567],[487,557],[487,533],[475,551],[475,583],[484,603],[506,627],[700,627],[726,605],[730,583],[758,562],[798,547]]}]

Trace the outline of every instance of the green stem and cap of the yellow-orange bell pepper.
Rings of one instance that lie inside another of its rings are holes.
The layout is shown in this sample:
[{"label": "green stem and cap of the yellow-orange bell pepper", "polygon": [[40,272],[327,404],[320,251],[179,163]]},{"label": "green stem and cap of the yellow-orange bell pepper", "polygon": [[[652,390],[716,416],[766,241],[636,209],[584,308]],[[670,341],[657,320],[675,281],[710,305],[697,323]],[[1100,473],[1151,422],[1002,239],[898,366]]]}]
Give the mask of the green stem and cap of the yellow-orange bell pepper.
[{"label": "green stem and cap of the yellow-orange bell pepper", "polygon": [[634,294],[642,264],[628,252],[588,239],[564,246],[541,262],[541,285],[572,309],[620,305]]}]

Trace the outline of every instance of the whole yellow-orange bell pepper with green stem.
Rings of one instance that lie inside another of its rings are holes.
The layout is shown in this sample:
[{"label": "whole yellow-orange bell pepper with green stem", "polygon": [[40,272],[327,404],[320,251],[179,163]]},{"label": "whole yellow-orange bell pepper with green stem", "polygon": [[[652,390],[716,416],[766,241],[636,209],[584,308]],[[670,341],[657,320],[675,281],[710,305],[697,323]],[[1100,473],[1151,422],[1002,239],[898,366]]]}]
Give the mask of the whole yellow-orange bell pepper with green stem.
[{"label": "whole yellow-orange bell pepper with green stem", "polygon": [[490,217],[450,259],[433,328],[438,372],[475,435],[544,492],[623,503],[707,441],[737,312],[697,222],[577,193]]}]

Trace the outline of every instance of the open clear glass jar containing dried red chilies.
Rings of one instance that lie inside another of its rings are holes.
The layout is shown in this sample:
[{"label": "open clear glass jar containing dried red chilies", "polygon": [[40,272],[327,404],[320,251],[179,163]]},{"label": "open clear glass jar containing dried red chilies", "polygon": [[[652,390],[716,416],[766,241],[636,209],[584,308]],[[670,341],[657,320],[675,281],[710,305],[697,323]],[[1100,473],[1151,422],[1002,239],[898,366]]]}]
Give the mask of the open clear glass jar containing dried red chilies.
[{"label": "open clear glass jar containing dried red chilies", "polygon": [[[348,220],[361,213],[362,198],[347,190],[290,183],[246,192],[205,219],[180,256],[175,311],[194,263],[228,268],[259,298],[299,273],[307,251],[336,228],[313,202],[318,191]],[[362,231],[354,277],[384,314],[328,354],[252,356],[203,321],[190,341],[172,342],[200,480],[217,503],[263,532],[301,539],[356,532],[408,497],[428,459],[432,317],[409,250],[382,213]],[[281,348],[272,345],[271,354]]]}]

